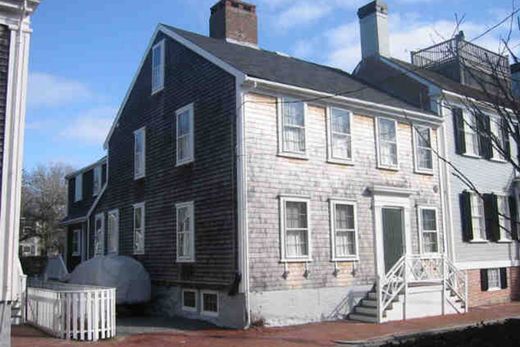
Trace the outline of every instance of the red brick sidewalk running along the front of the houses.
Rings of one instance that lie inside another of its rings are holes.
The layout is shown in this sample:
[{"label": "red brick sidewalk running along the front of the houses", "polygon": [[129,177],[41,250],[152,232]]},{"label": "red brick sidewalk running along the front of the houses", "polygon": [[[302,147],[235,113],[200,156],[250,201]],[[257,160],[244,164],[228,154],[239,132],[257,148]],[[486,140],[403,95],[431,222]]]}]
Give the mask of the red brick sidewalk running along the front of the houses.
[{"label": "red brick sidewalk running along the front of the houses", "polygon": [[[473,308],[465,315],[438,316],[391,322],[365,324],[349,321],[306,324],[288,328],[224,330],[217,328],[195,331],[164,331],[116,338],[88,346],[334,346],[335,341],[366,340],[383,336],[411,334],[425,330],[448,329],[484,321],[520,317],[520,302]],[[13,328],[13,347],[85,346],[50,338],[30,327]]]}]

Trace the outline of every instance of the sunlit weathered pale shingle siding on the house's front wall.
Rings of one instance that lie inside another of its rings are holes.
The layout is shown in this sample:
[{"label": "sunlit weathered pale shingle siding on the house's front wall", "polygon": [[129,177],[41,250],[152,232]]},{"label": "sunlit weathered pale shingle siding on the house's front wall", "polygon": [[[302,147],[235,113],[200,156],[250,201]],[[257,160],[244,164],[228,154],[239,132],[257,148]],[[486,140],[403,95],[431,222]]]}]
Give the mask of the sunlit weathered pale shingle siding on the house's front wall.
[{"label": "sunlit weathered pale shingle siding on the house's front wall", "polygon": [[[352,120],[354,165],[327,163],[325,109],[310,106],[306,119],[309,160],[277,156],[278,128],[276,99],[248,94],[246,103],[247,203],[251,290],[271,291],[373,284],[375,279],[373,184],[408,187],[412,191],[411,239],[418,253],[417,205],[438,208],[442,235],[437,162],[434,175],[415,174],[411,127],[398,126],[398,172],[376,168],[374,118],[356,114]],[[433,131],[433,146],[436,146]],[[434,158],[435,159],[435,158]],[[310,274],[303,276],[304,264],[289,263],[289,276],[283,278],[280,262],[280,195],[302,195],[310,199],[312,262]],[[349,199],[357,203],[359,262],[339,263],[334,276],[331,262],[329,199]],[[443,238],[441,237],[441,245]],[[441,246],[442,249],[442,246]],[[354,271],[353,271],[354,270]],[[353,275],[355,273],[355,275]]]}]

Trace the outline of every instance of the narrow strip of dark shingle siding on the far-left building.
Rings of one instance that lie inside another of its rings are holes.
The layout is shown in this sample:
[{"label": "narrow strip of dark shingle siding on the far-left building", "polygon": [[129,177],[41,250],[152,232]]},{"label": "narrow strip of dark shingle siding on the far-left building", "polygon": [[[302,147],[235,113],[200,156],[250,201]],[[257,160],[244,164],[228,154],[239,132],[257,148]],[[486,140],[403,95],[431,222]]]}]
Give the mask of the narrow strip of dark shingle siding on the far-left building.
[{"label": "narrow strip of dark shingle siding on the far-left building", "polygon": [[[9,70],[9,45],[11,31],[6,25],[0,25],[0,194],[2,193],[2,173],[4,161],[4,135],[7,102],[7,79]],[[0,206],[1,208],[1,206]]]}]

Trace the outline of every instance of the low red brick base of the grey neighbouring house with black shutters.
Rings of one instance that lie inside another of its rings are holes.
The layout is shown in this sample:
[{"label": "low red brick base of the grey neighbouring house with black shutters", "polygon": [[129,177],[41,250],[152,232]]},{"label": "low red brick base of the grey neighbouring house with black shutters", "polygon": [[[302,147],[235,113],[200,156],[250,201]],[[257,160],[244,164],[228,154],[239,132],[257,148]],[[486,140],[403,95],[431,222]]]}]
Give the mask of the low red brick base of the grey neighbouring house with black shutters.
[{"label": "low red brick base of the grey neighbouring house with black shutters", "polygon": [[493,305],[520,299],[520,267],[507,271],[507,288],[483,292],[480,289],[480,269],[467,270],[469,307]]}]

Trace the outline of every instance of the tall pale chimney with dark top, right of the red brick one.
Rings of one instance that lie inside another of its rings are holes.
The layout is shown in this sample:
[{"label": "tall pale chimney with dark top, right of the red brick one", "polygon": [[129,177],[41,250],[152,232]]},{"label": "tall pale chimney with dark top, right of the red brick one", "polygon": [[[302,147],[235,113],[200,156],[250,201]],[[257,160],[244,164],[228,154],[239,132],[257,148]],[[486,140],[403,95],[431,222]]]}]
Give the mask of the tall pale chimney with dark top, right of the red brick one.
[{"label": "tall pale chimney with dark top, right of the red brick one", "polygon": [[380,0],[358,10],[361,31],[361,57],[373,55],[390,56],[388,34],[388,6]]}]

